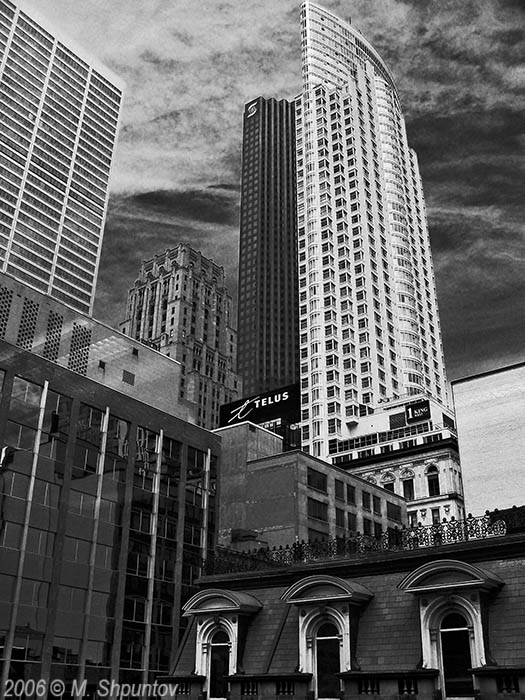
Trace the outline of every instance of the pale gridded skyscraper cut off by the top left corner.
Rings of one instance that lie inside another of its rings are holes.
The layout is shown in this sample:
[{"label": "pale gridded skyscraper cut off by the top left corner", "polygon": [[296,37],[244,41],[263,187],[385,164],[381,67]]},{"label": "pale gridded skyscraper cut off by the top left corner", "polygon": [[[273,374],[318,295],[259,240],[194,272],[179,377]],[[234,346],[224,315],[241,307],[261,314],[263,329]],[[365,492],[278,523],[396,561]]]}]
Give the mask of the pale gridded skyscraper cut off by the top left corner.
[{"label": "pale gridded skyscraper cut off by the top left corner", "polygon": [[122,82],[0,0],[0,262],[91,313]]}]

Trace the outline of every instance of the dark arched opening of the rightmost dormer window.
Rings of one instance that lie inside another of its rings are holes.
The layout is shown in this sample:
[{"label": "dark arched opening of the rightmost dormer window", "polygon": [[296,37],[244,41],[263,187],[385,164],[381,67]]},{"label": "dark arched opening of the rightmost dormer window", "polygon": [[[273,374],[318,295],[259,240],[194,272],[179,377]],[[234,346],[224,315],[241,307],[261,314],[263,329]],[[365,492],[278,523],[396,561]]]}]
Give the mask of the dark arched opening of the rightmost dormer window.
[{"label": "dark arched opening of the rightmost dormer window", "polygon": [[446,697],[473,697],[470,635],[463,615],[448,613],[441,621],[440,636]]}]

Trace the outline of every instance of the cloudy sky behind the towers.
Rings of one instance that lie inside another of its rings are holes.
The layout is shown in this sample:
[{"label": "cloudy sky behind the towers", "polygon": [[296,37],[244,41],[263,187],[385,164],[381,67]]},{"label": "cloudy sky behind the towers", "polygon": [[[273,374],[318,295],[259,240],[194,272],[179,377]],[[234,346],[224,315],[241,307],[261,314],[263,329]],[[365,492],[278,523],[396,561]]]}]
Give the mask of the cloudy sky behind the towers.
[{"label": "cloudy sky behind the towers", "polygon": [[[180,241],[236,291],[241,115],[300,89],[296,0],[38,0],[126,82],[95,316]],[[523,360],[521,0],[324,0],[394,74],[419,156],[450,379]]]}]

